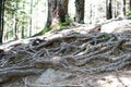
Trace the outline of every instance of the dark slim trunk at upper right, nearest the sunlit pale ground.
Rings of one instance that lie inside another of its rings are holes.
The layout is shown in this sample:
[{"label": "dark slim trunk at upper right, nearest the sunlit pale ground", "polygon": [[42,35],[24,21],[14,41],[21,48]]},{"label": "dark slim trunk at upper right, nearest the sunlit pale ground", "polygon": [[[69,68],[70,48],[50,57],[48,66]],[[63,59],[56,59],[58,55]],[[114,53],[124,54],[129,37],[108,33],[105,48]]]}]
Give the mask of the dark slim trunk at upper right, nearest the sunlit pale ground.
[{"label": "dark slim trunk at upper right, nearest the sunlit pale ground", "polygon": [[107,20],[112,18],[112,11],[111,11],[111,0],[106,0],[106,17]]}]

